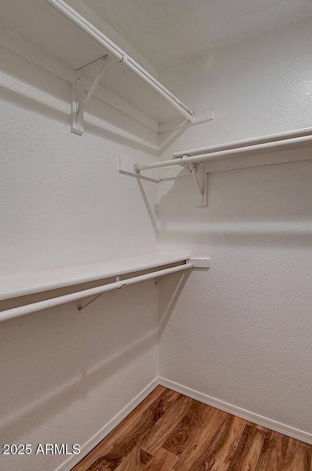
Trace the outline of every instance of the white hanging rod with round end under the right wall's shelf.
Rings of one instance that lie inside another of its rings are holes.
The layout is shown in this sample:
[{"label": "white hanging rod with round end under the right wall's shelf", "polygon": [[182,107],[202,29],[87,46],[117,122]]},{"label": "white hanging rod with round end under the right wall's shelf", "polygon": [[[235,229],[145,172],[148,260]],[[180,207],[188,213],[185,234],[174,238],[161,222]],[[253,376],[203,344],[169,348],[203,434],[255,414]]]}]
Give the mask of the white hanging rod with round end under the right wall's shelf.
[{"label": "white hanging rod with round end under the right wall's shelf", "polygon": [[141,170],[160,169],[163,167],[173,167],[175,165],[188,165],[190,163],[206,162],[209,160],[218,160],[220,158],[243,157],[245,155],[258,155],[267,152],[276,152],[277,150],[297,149],[307,147],[312,144],[312,135],[294,137],[292,139],[284,139],[276,142],[265,142],[254,146],[246,146],[237,149],[227,149],[220,151],[212,151],[206,154],[189,156],[184,154],[182,157],[163,160],[155,164],[139,164],[134,165],[135,173],[139,174]]}]

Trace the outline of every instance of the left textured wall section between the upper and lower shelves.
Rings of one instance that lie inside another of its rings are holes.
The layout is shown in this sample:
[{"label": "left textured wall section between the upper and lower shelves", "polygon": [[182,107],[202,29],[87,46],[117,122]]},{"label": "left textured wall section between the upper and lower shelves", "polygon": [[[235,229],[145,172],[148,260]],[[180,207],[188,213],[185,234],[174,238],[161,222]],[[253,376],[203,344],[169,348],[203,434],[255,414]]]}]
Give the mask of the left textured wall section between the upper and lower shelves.
[{"label": "left textured wall section between the upper and lower shelves", "polygon": [[147,207],[117,158],[156,156],[157,134],[94,99],[79,137],[69,84],[4,48],[1,68],[0,275],[154,249],[156,188]]}]

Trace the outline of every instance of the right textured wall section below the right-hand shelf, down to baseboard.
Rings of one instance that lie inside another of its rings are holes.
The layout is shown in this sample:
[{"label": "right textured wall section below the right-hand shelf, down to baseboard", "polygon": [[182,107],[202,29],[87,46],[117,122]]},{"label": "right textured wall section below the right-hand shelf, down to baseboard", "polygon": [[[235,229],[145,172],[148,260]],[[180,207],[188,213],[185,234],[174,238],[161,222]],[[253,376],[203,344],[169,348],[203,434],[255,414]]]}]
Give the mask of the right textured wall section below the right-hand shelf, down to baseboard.
[{"label": "right textured wall section below the right-hand shelf, down to baseboard", "polygon": [[161,288],[160,376],[309,432],[311,178],[312,161],[210,173],[197,208],[181,177],[159,203],[161,246],[211,257],[168,316]]}]

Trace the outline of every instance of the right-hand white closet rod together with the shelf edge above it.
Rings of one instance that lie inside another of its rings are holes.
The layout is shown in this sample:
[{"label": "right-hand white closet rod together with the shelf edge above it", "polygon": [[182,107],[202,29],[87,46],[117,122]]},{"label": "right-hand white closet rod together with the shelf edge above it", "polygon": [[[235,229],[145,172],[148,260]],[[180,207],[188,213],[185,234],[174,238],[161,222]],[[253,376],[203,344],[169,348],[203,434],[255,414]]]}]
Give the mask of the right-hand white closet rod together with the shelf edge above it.
[{"label": "right-hand white closet rod together with the shelf edge above it", "polygon": [[243,157],[244,155],[256,155],[277,150],[296,149],[311,144],[312,128],[298,129],[280,134],[246,139],[244,141],[234,141],[228,144],[176,152],[171,160],[163,160],[154,164],[136,163],[134,171],[139,173],[141,170],[187,165],[190,163],[218,160],[220,158]]}]

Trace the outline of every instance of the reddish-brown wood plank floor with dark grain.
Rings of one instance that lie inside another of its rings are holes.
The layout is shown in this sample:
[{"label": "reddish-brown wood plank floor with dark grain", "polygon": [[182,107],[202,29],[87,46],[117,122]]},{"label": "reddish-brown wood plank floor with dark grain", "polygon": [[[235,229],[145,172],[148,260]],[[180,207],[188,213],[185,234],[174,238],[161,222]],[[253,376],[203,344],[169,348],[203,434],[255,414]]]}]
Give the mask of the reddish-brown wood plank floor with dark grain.
[{"label": "reddish-brown wood plank floor with dark grain", "polygon": [[73,471],[312,471],[312,446],[163,386]]}]

